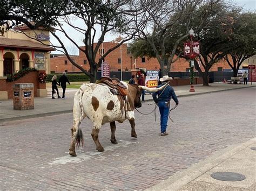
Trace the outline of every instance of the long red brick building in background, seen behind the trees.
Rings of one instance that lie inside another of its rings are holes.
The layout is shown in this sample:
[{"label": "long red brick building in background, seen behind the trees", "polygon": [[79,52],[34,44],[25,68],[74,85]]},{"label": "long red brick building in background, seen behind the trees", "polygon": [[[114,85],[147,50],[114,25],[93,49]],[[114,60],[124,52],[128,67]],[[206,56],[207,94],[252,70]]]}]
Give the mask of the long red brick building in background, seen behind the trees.
[{"label": "long red brick building in background, seen behind the trees", "polygon": [[[106,42],[103,43],[104,52],[106,52],[108,49],[112,48],[114,43]],[[84,48],[84,47],[82,47]],[[100,49],[102,47],[100,46]],[[110,70],[111,71],[117,71],[121,68],[120,63],[118,63],[118,58],[121,58],[121,48],[118,47],[114,51],[112,51],[107,57],[105,58],[105,61],[110,64]],[[96,56],[96,61],[98,61],[100,58],[100,53]],[[82,51],[79,51],[79,56],[72,56],[72,59],[76,61],[80,66],[82,66],[84,69],[89,70],[89,62],[85,56],[85,54]],[[64,72],[65,70],[68,70],[68,72],[79,72],[80,70],[73,66],[70,61],[68,61],[68,64],[65,65],[64,61],[68,59],[66,56],[63,57],[55,57],[51,58],[51,70],[55,72]],[[87,64],[84,65],[84,60],[87,60]],[[159,69],[160,65],[157,61],[157,59],[145,59],[145,62],[142,62],[142,58],[136,59],[136,68],[146,68],[146,69]],[[133,63],[135,62],[134,58],[132,58],[131,54],[127,54],[127,44],[122,45],[122,70],[124,71],[126,68],[131,70],[134,69]],[[57,66],[57,68],[56,68]],[[215,63],[213,67],[211,68],[211,71],[218,71],[218,67],[222,67],[223,69],[230,69],[230,66],[227,65],[227,63],[223,60],[221,60],[218,63]],[[171,65],[171,72],[186,72],[186,68],[189,68],[189,63],[185,59],[178,59],[176,62],[172,63]],[[204,71],[203,66],[200,66],[200,68]]]}]

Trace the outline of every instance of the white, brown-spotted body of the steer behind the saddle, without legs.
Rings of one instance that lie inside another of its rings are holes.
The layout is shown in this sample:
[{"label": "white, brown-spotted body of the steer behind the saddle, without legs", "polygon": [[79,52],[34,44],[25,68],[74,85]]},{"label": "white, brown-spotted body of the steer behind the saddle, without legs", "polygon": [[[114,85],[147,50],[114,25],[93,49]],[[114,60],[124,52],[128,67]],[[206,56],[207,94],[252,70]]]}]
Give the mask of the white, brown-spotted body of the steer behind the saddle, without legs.
[{"label": "white, brown-spotted body of the steer behind the saddle, without legs", "polygon": [[74,120],[87,116],[92,122],[102,124],[125,120],[117,95],[113,95],[108,87],[95,83],[79,88],[74,97],[73,115]]}]

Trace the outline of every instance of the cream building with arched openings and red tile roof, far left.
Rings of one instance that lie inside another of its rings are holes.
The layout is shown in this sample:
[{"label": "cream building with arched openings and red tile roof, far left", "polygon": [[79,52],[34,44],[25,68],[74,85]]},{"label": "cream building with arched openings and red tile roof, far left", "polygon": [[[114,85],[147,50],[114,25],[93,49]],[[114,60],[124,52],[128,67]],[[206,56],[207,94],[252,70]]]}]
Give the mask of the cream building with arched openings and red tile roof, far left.
[{"label": "cream building with arched openings and red tile roof, far left", "polygon": [[[0,28],[3,29],[3,26]],[[44,45],[37,40],[41,40]],[[12,87],[9,87],[12,84],[6,81],[8,75],[29,67],[50,73],[50,51],[54,49],[47,45],[49,45],[49,32],[43,29],[30,30],[26,25],[0,34],[0,99],[12,97]],[[38,79],[32,77],[27,83],[34,81],[36,83]],[[23,79],[22,83],[25,82],[26,80]],[[45,96],[45,94],[47,96],[46,88],[39,85],[35,87],[38,87],[35,96]]]}]

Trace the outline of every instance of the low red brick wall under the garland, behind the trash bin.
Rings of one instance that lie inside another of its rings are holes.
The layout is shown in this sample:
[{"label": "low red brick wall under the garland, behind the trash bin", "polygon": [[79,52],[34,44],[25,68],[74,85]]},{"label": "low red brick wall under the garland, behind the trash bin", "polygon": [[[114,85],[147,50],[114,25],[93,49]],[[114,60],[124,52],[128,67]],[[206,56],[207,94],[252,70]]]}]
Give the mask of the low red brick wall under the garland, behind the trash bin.
[{"label": "low red brick wall under the garland, behind the trash bin", "polygon": [[46,83],[40,83],[38,80],[39,73],[45,71],[32,71],[14,82],[7,82],[6,79],[0,79],[0,91],[8,92],[8,99],[13,98],[13,84],[15,83],[33,83],[34,96],[37,97],[37,89],[46,89]]}]

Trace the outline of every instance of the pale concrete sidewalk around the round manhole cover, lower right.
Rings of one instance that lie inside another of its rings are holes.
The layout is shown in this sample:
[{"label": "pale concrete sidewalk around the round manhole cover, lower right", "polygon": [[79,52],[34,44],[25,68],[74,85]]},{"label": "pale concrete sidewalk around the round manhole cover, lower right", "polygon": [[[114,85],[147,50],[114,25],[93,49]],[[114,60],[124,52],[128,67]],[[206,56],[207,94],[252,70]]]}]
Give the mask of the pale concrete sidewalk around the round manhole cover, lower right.
[{"label": "pale concrete sidewalk around the round manhole cover, lower right", "polygon": [[[256,148],[256,138],[239,146],[227,147],[146,190],[256,190],[256,151],[252,150],[252,147]],[[217,172],[239,173],[244,175],[245,179],[213,179],[211,174]]]}]

